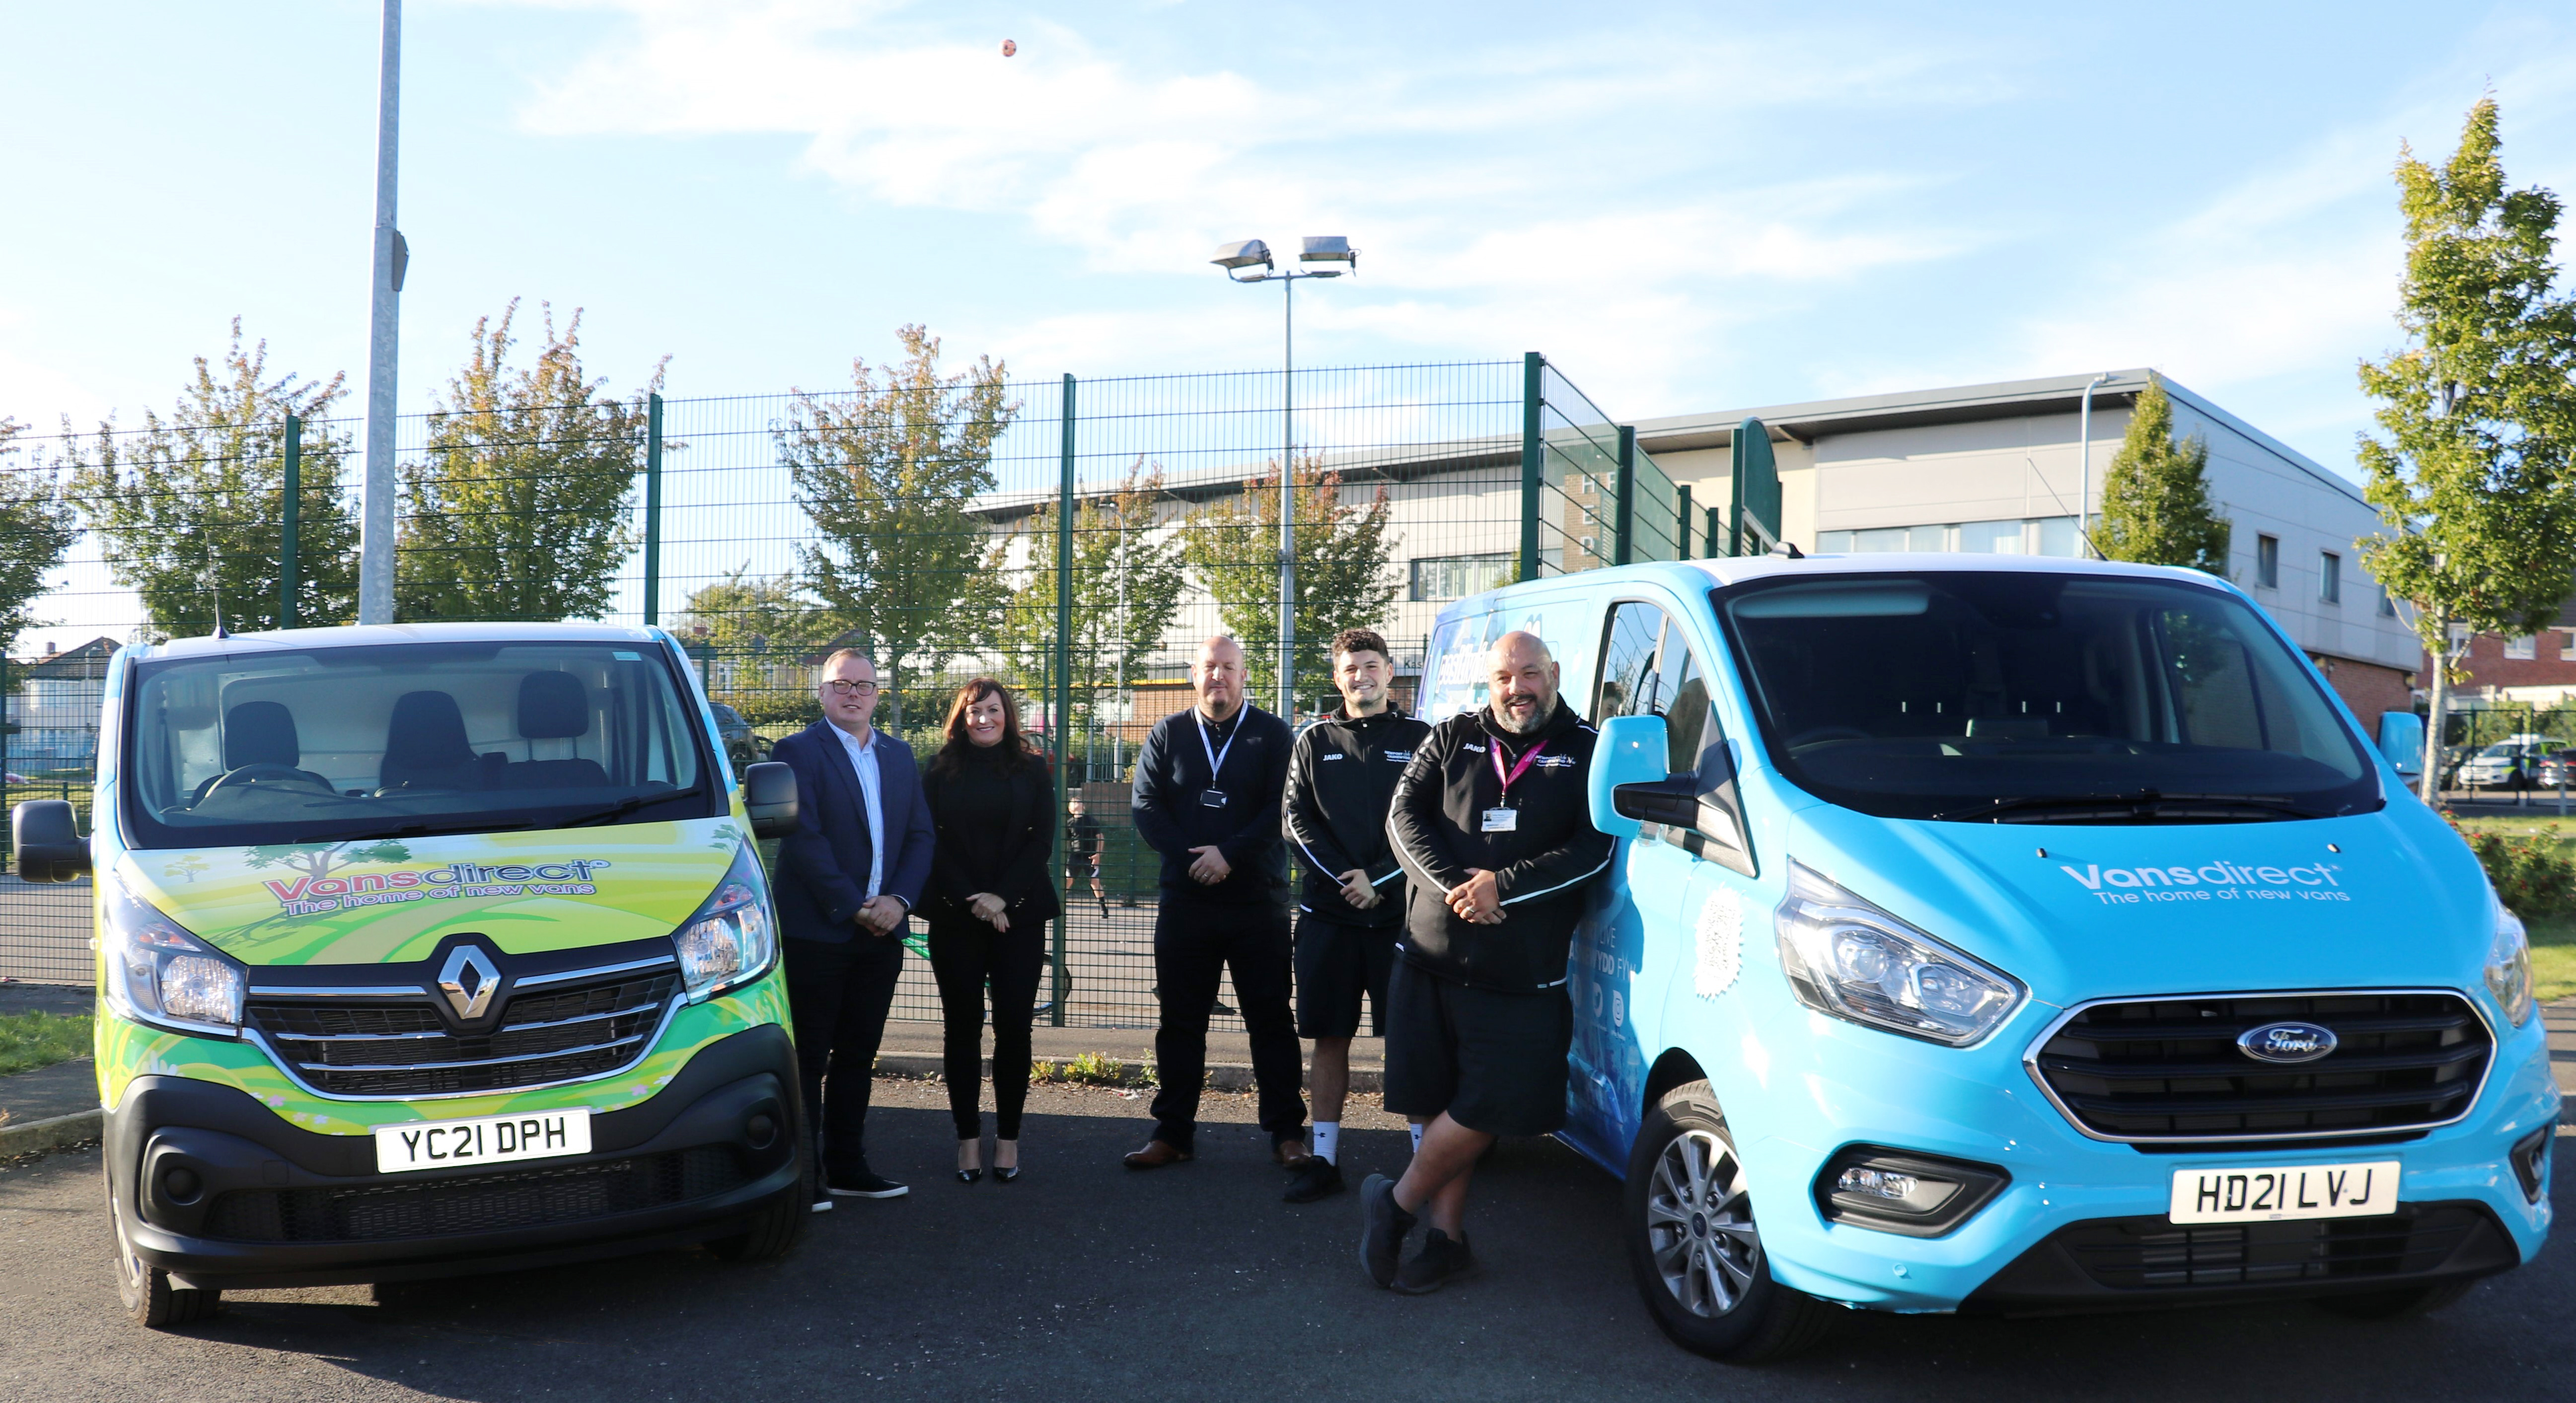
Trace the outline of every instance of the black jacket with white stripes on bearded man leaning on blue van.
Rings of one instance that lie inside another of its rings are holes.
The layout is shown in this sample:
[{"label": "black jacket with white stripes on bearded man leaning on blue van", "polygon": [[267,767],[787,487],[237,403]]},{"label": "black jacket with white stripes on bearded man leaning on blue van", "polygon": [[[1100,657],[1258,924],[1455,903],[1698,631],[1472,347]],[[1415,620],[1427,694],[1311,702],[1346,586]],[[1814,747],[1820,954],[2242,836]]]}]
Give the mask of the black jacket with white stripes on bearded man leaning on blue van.
[{"label": "black jacket with white stripes on bearded man leaning on blue van", "polygon": [[[1494,747],[1502,744],[1510,767],[1528,754],[1533,739],[1546,749],[1512,780],[1515,826],[1486,832],[1484,813],[1502,808],[1504,793],[1494,775]],[[1610,834],[1592,826],[1584,798],[1597,739],[1564,698],[1538,736],[1504,731],[1492,708],[1432,726],[1404,767],[1386,816],[1388,842],[1409,878],[1404,940],[1396,950],[1412,965],[1507,994],[1535,994],[1566,981],[1566,947],[1584,914],[1587,886],[1610,865]],[[1448,888],[1468,878],[1468,868],[1494,873],[1502,924],[1463,922],[1443,901]]]}]

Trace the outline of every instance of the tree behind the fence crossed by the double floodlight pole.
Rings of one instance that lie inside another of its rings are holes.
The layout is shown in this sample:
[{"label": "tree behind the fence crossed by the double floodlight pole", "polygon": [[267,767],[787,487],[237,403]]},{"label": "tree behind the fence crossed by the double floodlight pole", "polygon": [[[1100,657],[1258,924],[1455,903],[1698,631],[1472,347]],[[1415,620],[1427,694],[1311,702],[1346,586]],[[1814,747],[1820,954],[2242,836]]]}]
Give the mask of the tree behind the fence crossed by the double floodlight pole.
[{"label": "tree behind the fence crossed by the double floodlight pole", "polygon": [[[1252,685],[1247,695],[1278,690],[1278,461],[1234,497],[1193,512],[1180,528],[1180,553],[1216,597],[1226,631],[1244,644]],[[1296,469],[1296,677],[1329,677],[1332,636],[1378,628],[1396,605],[1386,487],[1360,502],[1342,499],[1342,474],[1319,458]]]}]

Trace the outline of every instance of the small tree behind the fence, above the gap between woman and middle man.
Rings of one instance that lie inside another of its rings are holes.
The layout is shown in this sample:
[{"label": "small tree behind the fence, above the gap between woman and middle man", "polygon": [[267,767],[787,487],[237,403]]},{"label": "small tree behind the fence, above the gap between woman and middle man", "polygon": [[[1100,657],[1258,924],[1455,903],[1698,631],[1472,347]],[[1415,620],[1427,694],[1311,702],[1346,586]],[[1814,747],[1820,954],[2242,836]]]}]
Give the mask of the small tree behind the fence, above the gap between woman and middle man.
[{"label": "small tree behind the fence, above the gap between woman and middle man", "polygon": [[[1159,530],[1162,466],[1136,458],[1113,492],[1074,505],[1074,628],[1066,633],[1074,705],[1095,705],[1103,690],[1144,677],[1144,659],[1180,613],[1188,574],[1180,541]],[[1023,682],[1048,674],[1056,649],[1056,512],[1041,507],[1025,541],[1025,569],[1012,590],[997,638]],[[994,548],[1005,561],[1010,541]]]}]

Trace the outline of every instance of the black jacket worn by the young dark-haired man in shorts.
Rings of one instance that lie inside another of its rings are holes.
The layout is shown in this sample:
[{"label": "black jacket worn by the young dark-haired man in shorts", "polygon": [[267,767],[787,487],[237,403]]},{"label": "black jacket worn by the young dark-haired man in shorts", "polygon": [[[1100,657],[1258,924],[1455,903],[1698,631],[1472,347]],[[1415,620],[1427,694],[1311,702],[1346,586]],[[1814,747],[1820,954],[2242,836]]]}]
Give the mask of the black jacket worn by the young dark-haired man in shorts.
[{"label": "black jacket worn by the young dark-haired man in shorts", "polygon": [[[1288,842],[1306,868],[1298,909],[1350,927],[1404,919],[1404,886],[1388,886],[1404,868],[1386,847],[1386,808],[1430,734],[1394,705],[1376,716],[1334,713],[1298,734],[1288,757]],[[1352,868],[1365,868],[1386,896],[1365,911],[1342,898],[1342,873]]]}]

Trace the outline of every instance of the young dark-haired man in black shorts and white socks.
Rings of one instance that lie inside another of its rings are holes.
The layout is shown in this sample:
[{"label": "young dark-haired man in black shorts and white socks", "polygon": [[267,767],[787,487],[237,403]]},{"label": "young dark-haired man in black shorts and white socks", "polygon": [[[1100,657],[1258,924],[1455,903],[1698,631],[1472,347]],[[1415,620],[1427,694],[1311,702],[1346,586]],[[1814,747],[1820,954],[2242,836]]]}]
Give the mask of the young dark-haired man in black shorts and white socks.
[{"label": "young dark-haired man in black shorts and white socks", "polygon": [[1306,873],[1296,914],[1296,1030],[1314,1037],[1314,1153],[1291,1166],[1288,1202],[1342,1192],[1342,1097],[1360,994],[1370,1032],[1386,1035],[1386,976],[1404,922],[1386,806],[1414,747],[1432,734],[1386,698],[1394,674],[1386,638],[1345,628],[1332,641],[1342,711],[1298,734],[1288,757],[1288,842]]}]

